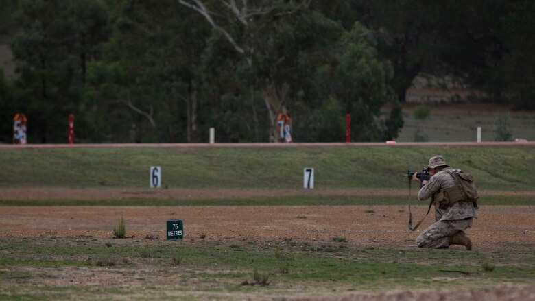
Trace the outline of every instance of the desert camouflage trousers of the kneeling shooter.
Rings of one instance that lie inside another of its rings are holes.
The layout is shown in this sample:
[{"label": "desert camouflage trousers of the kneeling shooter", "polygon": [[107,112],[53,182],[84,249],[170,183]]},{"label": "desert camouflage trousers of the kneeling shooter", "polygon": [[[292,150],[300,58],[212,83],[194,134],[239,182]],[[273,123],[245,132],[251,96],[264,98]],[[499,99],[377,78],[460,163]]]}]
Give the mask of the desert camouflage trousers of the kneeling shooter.
[{"label": "desert camouflage trousers of the kneeling shooter", "polygon": [[449,246],[448,237],[471,228],[471,226],[472,217],[453,221],[437,221],[416,237],[416,245],[419,248],[446,248]]}]

